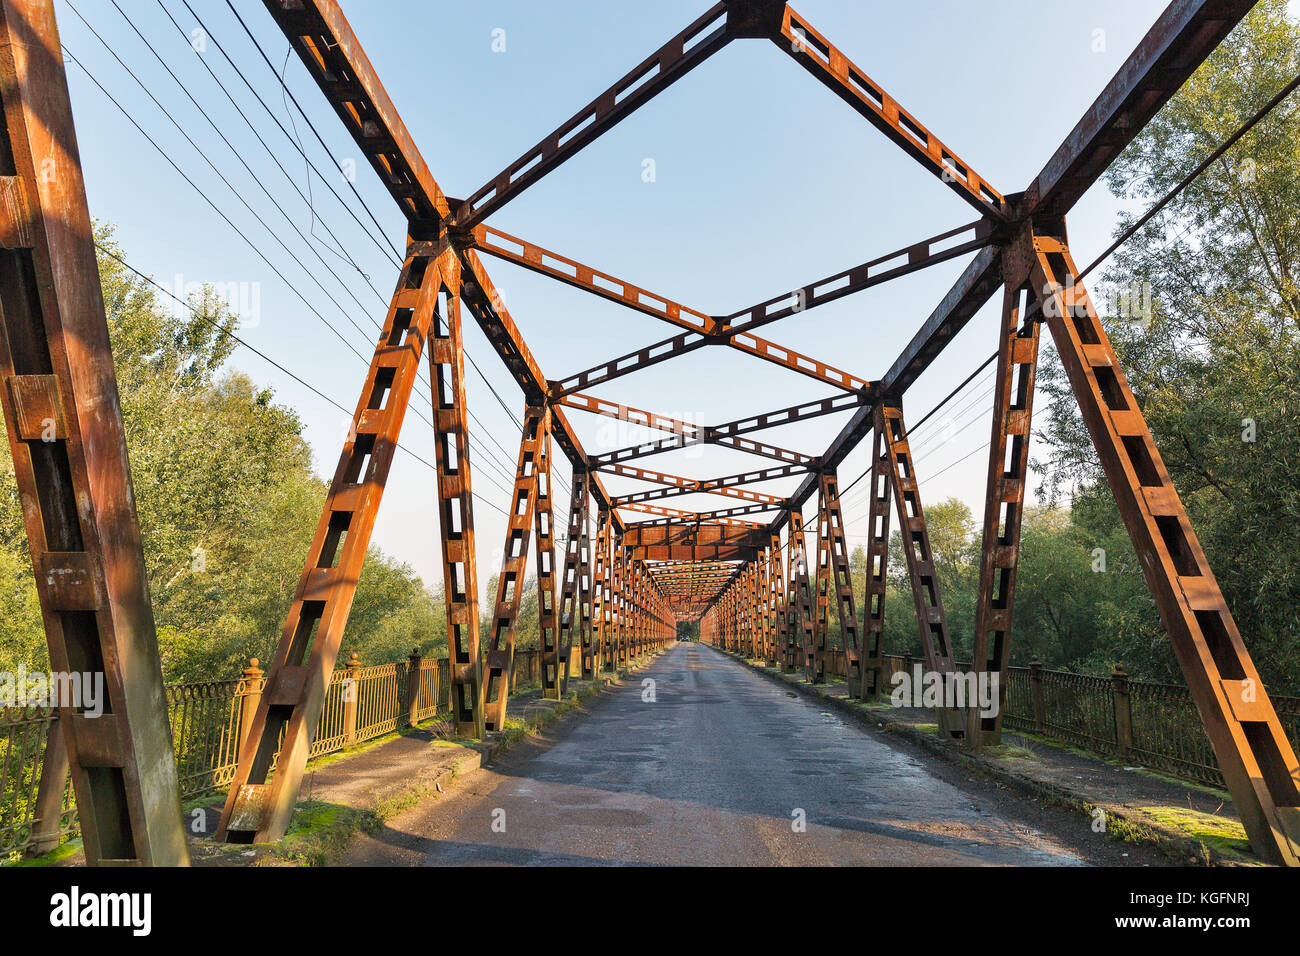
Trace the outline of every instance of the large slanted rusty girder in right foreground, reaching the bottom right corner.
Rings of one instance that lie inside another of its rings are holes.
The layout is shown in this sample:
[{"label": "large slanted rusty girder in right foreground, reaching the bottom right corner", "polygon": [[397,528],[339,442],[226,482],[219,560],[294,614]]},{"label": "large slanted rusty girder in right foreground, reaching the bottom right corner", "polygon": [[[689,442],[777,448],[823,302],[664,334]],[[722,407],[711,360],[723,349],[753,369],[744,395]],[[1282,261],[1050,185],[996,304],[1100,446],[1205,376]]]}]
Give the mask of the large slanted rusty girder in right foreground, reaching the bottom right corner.
[{"label": "large slanted rusty girder in right foreground, reaching the bottom right corner", "polygon": [[1032,285],[1251,845],[1300,865],[1300,763],[1070,250],[1034,237]]}]

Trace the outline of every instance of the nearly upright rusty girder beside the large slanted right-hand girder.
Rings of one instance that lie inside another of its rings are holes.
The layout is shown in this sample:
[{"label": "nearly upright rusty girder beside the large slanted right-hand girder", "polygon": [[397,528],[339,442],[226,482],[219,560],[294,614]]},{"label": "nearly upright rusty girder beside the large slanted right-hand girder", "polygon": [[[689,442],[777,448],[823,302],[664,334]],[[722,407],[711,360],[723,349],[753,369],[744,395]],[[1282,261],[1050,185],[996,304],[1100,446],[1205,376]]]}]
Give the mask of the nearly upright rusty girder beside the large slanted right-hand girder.
[{"label": "nearly upright rusty girder beside the large slanted right-hand girder", "polygon": [[[1019,564],[1020,520],[1024,516],[1026,475],[1034,416],[1034,381],[1039,363],[1040,324],[1020,328],[1022,299],[1031,260],[1031,232],[1018,241],[1002,274],[1002,321],[998,329],[997,371],[993,378],[993,433],[988,453],[988,484],[984,498],[984,535],[980,545],[979,592],[975,602],[972,666],[996,675],[1000,705],[992,717],[972,708],[967,735],[972,747],[1000,743],[1002,706],[1006,701],[1006,666],[1011,653],[1011,610],[1015,601],[1015,571]],[[1017,268],[1015,259],[1024,264]]]}]

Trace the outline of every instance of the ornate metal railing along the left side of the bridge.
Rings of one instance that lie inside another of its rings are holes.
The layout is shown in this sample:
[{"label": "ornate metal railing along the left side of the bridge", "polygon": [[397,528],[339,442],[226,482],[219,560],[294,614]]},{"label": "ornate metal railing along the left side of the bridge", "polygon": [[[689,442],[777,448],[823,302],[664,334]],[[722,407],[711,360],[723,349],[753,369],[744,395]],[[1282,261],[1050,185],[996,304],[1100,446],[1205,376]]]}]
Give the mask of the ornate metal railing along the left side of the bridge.
[{"label": "ornate metal railing along the left side of the bridge", "polygon": [[[536,684],[538,672],[537,649],[516,650],[511,691]],[[230,784],[265,683],[254,658],[234,680],[166,685],[182,799]],[[412,654],[406,661],[367,667],[354,654],[330,679],[309,758],[424,723],[450,713],[450,702],[447,658]],[[66,779],[58,819],[43,821],[36,812],[46,741],[58,732],[57,722],[53,708],[0,708],[0,858],[52,849],[62,834],[77,830],[75,801]]]}]

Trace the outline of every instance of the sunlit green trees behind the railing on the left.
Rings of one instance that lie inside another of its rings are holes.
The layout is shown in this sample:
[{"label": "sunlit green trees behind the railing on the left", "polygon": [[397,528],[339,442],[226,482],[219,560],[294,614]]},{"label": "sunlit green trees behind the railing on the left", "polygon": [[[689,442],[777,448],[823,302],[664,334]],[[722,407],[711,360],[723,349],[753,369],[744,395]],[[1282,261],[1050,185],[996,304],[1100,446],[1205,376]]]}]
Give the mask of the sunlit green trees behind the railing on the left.
[{"label": "sunlit green trees behind the railing on the left", "polygon": [[[118,252],[112,232],[99,242]],[[107,255],[100,282],[144,559],[169,682],[270,658],[325,498],[298,414],[228,368],[238,316],[212,289],[194,311]],[[0,450],[0,670],[46,666],[44,631],[8,445]],[[363,662],[442,653],[442,598],[370,549],[343,639]]]}]

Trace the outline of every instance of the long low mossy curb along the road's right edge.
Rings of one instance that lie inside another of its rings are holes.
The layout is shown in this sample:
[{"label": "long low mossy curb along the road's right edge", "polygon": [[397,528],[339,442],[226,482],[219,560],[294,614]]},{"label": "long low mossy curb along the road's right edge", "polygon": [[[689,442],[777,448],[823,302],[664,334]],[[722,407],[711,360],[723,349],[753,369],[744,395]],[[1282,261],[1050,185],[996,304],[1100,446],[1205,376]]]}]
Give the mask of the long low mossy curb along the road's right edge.
[{"label": "long low mossy curb along the road's right edge", "polygon": [[[1170,860],[1184,865],[1264,865],[1257,860],[1227,856],[1213,847],[1208,847],[1200,840],[1187,836],[1186,834],[1160,827],[1122,804],[1098,803],[1089,799],[1083,791],[1049,783],[1046,780],[1039,780],[1027,774],[1017,773],[1015,770],[1002,766],[1001,763],[987,757],[979,757],[967,750],[962,750],[918,730],[914,724],[907,723],[888,711],[867,710],[849,702],[848,698],[833,697],[829,693],[829,688],[832,685],[824,685],[826,689],[823,689],[820,685],[796,683],[789,680],[779,670],[772,667],[760,667],[748,658],[740,654],[733,654],[728,650],[720,650],[718,648],[712,649],[732,658],[733,661],[738,661],[749,667],[749,670],[763,675],[781,687],[796,691],[803,697],[820,701],[829,709],[849,717],[861,724],[876,726],[878,730],[897,734],[898,736],[905,737],[909,743],[920,747],[927,753],[931,753],[948,763],[953,763],[963,770],[996,780],[997,783],[1010,787],[1024,796],[1040,800],[1053,806],[1072,810],[1086,818],[1089,825],[1093,819],[1093,812],[1100,809],[1106,814],[1106,832],[1110,839],[1156,847]],[[1115,826],[1117,823],[1118,826]]]}]

